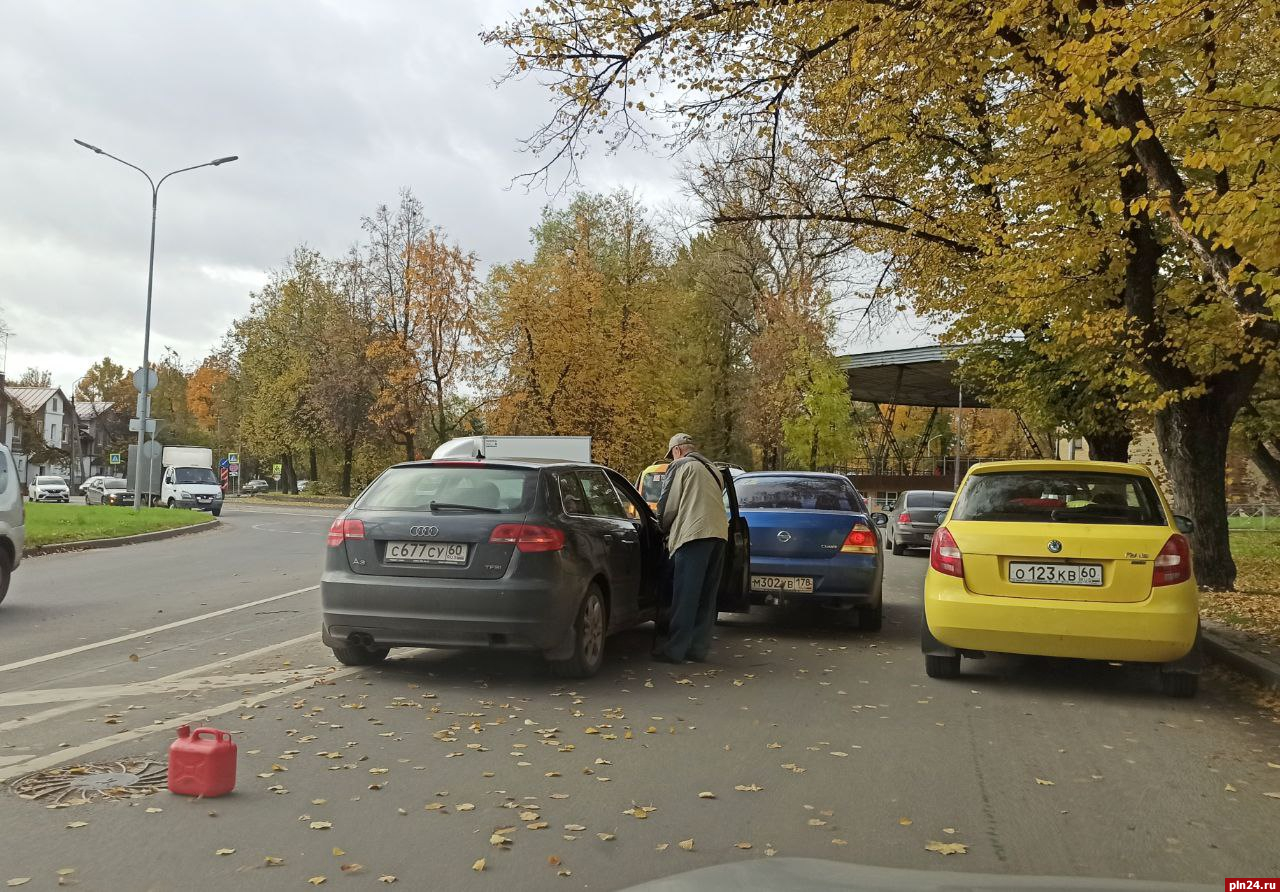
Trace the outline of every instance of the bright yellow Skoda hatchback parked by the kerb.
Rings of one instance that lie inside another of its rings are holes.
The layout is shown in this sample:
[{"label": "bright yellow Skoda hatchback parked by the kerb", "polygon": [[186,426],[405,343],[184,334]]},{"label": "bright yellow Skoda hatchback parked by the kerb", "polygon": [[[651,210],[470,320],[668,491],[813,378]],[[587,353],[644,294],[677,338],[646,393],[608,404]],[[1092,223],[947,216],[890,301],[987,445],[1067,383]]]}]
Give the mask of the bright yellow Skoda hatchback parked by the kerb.
[{"label": "bright yellow Skoda hatchback parked by the kerb", "polygon": [[1155,663],[1166,694],[1194,696],[1190,529],[1140,465],[975,465],[929,549],[925,672],[987,653]]}]

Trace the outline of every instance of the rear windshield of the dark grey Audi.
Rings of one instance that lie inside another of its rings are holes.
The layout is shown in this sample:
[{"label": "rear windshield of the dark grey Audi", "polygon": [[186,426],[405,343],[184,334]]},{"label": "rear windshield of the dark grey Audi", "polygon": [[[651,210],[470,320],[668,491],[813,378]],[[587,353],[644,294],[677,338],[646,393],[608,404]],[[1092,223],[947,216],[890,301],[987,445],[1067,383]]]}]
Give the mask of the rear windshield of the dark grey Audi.
[{"label": "rear windshield of the dark grey Audi", "polygon": [[[385,511],[430,511],[431,503],[471,506],[522,514],[534,503],[538,471],[472,465],[424,465],[388,468],[378,477],[357,507]],[[463,511],[448,508],[447,511]]]}]

